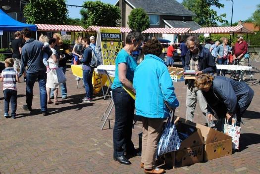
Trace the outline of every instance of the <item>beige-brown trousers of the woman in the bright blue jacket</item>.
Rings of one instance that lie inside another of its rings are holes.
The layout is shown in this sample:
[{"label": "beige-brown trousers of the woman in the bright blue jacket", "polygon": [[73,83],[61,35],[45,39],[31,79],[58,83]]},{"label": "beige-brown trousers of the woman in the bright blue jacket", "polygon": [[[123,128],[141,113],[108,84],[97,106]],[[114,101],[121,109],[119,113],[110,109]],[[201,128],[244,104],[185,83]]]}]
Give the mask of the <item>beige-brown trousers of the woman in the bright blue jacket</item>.
[{"label": "beige-brown trousers of the woman in the bright blue jacket", "polygon": [[143,137],[142,137],[142,160],[145,169],[156,167],[156,150],[160,137],[163,120],[142,117]]}]

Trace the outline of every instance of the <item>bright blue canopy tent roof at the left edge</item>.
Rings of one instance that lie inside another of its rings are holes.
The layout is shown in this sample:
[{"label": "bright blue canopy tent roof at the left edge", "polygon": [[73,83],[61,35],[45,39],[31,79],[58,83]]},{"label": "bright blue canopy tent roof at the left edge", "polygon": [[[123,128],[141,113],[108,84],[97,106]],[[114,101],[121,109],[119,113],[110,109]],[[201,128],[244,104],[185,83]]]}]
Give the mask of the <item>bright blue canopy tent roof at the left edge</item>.
[{"label": "bright blue canopy tent roof at the left edge", "polygon": [[[0,31],[14,32],[20,31],[24,28],[29,28],[31,31],[37,31],[37,26],[32,24],[25,24],[8,16],[0,9]],[[2,39],[2,37],[1,37]],[[2,45],[2,40],[1,40]]]}]

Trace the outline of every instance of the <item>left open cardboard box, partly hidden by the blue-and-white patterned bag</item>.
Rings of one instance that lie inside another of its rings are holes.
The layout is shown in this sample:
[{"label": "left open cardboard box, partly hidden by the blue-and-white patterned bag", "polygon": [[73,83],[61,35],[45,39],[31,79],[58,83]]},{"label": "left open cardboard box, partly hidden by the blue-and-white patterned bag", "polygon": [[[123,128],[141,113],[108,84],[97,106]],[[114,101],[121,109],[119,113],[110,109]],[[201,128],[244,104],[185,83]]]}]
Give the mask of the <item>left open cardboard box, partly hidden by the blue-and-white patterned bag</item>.
[{"label": "left open cardboard box, partly hidden by the blue-and-white patterned bag", "polygon": [[178,132],[194,131],[181,142],[180,149],[164,155],[165,165],[171,168],[188,166],[203,161],[204,139],[200,128],[185,123],[176,123]]}]

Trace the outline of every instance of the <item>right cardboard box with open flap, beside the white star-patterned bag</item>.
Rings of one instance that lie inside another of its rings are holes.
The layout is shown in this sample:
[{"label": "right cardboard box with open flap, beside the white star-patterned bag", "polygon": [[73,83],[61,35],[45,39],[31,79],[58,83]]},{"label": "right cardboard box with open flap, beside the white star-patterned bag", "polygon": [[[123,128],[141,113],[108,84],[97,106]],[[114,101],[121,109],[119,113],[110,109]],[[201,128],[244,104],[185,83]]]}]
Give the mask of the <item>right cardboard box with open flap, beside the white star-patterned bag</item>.
[{"label": "right cardboard box with open flap, beside the white star-patterned bag", "polygon": [[199,128],[204,138],[204,161],[232,154],[232,137],[220,131],[177,117],[174,121]]}]

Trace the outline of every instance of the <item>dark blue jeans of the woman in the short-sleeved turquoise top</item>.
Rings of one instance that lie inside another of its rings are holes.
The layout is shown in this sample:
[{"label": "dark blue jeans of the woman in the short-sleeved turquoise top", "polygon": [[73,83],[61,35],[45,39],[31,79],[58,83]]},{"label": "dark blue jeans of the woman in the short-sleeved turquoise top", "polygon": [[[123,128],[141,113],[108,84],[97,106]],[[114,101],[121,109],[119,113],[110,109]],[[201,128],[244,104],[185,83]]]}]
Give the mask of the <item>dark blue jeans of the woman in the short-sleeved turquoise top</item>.
[{"label": "dark blue jeans of the woman in the short-sleeved turquoise top", "polygon": [[134,120],[135,100],[122,88],[112,89],[115,106],[115,124],[113,130],[114,157],[133,154],[135,147],[132,142],[132,126]]}]

